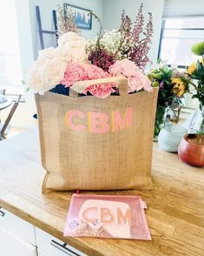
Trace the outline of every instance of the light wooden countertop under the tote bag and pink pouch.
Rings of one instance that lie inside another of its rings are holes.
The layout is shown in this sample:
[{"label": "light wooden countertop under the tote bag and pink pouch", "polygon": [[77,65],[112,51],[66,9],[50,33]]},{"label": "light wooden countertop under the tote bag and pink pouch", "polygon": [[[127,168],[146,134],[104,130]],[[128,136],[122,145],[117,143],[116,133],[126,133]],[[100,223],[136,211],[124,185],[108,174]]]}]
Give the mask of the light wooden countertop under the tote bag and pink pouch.
[{"label": "light wooden countertop under the tote bag and pink pouch", "polygon": [[153,191],[94,192],[141,195],[152,241],[63,238],[71,192],[41,193],[36,131],[0,142],[0,206],[88,255],[204,255],[204,168],[182,163],[154,145]]}]

